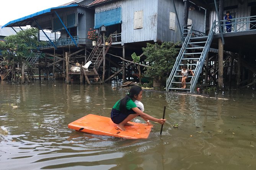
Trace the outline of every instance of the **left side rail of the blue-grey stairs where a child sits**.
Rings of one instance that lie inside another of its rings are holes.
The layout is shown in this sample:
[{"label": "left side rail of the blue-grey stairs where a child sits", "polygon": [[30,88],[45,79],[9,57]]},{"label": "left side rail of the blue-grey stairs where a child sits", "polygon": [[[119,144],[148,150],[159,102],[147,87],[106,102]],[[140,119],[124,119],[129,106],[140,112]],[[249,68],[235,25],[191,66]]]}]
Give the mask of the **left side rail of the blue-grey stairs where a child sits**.
[{"label": "left side rail of the blue-grey stairs where a child sits", "polygon": [[[184,43],[181,47],[181,50],[179,51],[179,55],[176,57],[176,61],[174,63],[173,69],[171,70],[171,74],[166,82],[166,91],[168,91],[168,89],[171,87],[171,80],[173,79],[176,69],[179,67],[179,61],[181,60],[181,58],[183,56],[183,52],[188,45],[189,39],[192,34],[192,28],[193,28],[193,24],[191,25],[191,29],[189,30],[187,37],[185,38]],[[184,32],[184,29],[183,29],[183,32]]]}]

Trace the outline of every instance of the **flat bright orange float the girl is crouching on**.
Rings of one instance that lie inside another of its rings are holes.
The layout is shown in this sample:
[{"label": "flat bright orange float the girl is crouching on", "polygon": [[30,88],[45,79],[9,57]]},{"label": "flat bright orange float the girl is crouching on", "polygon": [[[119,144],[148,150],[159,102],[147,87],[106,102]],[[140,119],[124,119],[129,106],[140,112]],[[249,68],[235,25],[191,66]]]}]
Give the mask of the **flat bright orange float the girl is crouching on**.
[{"label": "flat bright orange float the girl is crouching on", "polygon": [[126,126],[126,131],[121,131],[109,117],[88,114],[72,123],[69,123],[68,128],[95,135],[107,135],[127,139],[148,138],[152,128],[151,125],[146,123],[129,123],[133,124],[133,126]]}]

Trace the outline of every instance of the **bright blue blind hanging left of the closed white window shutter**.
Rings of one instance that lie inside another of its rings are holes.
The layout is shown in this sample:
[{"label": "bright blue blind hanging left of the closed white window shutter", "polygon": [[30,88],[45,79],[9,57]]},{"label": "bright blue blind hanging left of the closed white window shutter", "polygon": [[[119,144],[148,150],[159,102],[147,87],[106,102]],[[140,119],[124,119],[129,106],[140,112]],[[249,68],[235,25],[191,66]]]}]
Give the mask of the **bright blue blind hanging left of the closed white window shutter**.
[{"label": "bright blue blind hanging left of the closed white window shutter", "polygon": [[112,25],[121,24],[121,23],[122,23],[122,8],[121,7],[103,10],[101,12],[95,13],[94,29],[98,29],[102,25],[112,26]]}]

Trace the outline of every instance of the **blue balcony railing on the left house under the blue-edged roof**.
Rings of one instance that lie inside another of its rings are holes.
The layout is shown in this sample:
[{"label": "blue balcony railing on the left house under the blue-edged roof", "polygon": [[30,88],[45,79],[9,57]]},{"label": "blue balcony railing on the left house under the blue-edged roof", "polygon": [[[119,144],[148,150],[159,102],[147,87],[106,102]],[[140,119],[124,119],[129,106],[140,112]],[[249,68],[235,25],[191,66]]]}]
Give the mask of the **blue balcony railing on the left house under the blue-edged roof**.
[{"label": "blue balcony railing on the left house under the blue-edged roof", "polygon": [[[73,40],[75,41],[75,43],[78,44],[79,42],[79,38],[78,36],[74,36]],[[52,40],[52,43],[54,43],[54,45],[56,47],[58,46],[65,46],[65,45],[75,45],[75,43],[73,42],[71,37],[68,38],[59,38],[57,40]],[[52,45],[52,43],[50,41],[46,41],[45,45],[41,45],[39,46],[39,48],[54,48],[54,45]]]}]

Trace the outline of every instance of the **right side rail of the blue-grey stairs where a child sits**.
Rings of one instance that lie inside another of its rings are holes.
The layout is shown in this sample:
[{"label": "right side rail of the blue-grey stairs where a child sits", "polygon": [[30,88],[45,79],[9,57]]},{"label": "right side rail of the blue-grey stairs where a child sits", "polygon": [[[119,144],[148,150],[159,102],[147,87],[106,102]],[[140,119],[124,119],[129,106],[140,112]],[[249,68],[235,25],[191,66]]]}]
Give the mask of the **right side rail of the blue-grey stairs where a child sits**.
[{"label": "right side rail of the blue-grey stairs where a child sits", "polygon": [[205,58],[207,56],[207,52],[209,51],[210,43],[212,42],[212,39],[213,39],[215,23],[216,22],[214,21],[213,25],[210,29],[210,33],[208,35],[206,43],[204,45],[204,49],[202,51],[202,54],[201,54],[199,60],[197,61],[197,66],[194,70],[194,76],[192,76],[191,81],[190,81],[191,82],[190,93],[192,93],[192,91],[194,91],[194,88],[196,87],[196,82],[198,80],[199,74],[201,74],[201,72],[202,72],[202,67],[204,65],[204,61],[205,61]]}]

